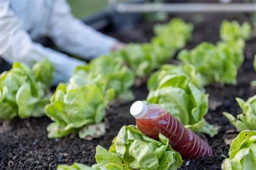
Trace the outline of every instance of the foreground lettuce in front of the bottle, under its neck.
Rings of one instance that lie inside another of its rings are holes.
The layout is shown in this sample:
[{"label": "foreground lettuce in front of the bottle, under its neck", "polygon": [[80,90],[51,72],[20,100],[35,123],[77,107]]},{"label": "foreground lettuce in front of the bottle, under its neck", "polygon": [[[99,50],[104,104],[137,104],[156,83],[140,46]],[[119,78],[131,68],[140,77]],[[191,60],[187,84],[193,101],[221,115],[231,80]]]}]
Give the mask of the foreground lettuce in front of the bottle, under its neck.
[{"label": "foreground lettuce in front of the bottle, under its neck", "polygon": [[178,169],[183,160],[159,134],[159,141],[145,136],[135,126],[123,126],[112,141],[109,151],[96,149],[98,164],[116,164],[122,169]]}]

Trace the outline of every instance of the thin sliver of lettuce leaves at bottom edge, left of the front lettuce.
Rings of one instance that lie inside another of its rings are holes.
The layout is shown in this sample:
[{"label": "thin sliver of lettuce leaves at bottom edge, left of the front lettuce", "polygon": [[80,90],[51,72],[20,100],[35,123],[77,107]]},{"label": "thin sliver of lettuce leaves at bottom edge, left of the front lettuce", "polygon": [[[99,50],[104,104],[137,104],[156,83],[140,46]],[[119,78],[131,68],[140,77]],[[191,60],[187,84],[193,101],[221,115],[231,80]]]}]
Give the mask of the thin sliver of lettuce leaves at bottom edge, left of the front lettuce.
[{"label": "thin sliver of lettuce leaves at bottom edge, left of the front lettuce", "polygon": [[122,170],[121,167],[117,166],[116,164],[96,164],[92,167],[75,163],[73,165],[58,165],[57,170]]}]

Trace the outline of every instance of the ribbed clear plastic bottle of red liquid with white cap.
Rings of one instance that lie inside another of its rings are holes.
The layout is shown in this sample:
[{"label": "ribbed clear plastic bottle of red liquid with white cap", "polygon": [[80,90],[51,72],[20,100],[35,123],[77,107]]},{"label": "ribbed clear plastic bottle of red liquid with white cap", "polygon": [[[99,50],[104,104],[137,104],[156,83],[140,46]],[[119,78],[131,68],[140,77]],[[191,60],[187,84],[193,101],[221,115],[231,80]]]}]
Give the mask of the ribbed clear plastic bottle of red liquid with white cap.
[{"label": "ribbed clear plastic bottle of red liquid with white cap", "polygon": [[211,146],[196,133],[184,127],[169,112],[158,104],[145,104],[142,101],[134,102],[130,109],[131,115],[136,118],[138,129],[147,136],[158,140],[161,133],[169,138],[171,147],[181,154],[183,159],[194,159],[211,155]]}]

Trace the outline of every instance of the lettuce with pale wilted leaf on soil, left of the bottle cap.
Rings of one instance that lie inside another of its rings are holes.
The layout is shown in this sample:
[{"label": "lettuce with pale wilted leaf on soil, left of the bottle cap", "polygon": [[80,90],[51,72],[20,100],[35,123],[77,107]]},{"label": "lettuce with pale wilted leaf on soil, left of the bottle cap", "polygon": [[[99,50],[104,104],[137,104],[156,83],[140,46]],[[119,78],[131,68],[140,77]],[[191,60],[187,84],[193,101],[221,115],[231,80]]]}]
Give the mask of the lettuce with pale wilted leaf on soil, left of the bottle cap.
[{"label": "lettuce with pale wilted leaf on soil, left of the bottle cap", "polygon": [[60,83],[51,103],[45,107],[46,115],[55,121],[47,128],[48,137],[64,137],[73,131],[79,131],[83,138],[102,136],[105,132],[103,124],[99,124],[99,129],[88,125],[102,122],[107,104],[113,97],[113,89],[104,94],[96,84],[68,89],[66,84]]}]

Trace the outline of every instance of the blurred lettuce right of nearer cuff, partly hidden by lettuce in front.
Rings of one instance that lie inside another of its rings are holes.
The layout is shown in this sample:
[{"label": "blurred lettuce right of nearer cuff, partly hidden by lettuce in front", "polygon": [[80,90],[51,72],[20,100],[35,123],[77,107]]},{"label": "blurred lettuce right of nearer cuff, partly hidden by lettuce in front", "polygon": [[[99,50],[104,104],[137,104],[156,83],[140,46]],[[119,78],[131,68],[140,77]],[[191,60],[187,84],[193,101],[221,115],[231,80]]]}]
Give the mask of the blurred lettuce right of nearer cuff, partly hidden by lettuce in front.
[{"label": "blurred lettuce right of nearer cuff, partly hidden by lettuce in front", "polygon": [[130,87],[134,84],[134,74],[123,65],[122,60],[111,56],[100,56],[92,60],[88,65],[75,69],[68,89],[95,83],[102,89],[114,89],[115,98],[130,101],[134,96]]}]

